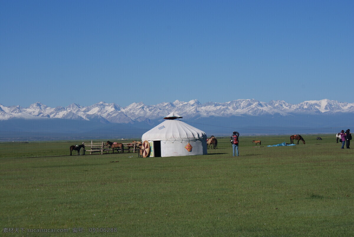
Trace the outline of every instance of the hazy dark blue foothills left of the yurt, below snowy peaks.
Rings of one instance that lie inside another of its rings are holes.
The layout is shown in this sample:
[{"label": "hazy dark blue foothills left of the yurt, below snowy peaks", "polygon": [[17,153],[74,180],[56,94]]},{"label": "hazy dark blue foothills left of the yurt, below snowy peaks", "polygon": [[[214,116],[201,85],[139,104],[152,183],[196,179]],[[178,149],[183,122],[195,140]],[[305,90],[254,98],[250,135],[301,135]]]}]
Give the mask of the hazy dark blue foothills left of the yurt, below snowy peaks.
[{"label": "hazy dark blue foothills left of the yurt, below snowy peaks", "polygon": [[[143,124],[144,125],[144,124]],[[143,126],[142,126],[143,127]],[[148,128],[71,119],[8,119],[0,121],[0,141],[139,138]]]}]

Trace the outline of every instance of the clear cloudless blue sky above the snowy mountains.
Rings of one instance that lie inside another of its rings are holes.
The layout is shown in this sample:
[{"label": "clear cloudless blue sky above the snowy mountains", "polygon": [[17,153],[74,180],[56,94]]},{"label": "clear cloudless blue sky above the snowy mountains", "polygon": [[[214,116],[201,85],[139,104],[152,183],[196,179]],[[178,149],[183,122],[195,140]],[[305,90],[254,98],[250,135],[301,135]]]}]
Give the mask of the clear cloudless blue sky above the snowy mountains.
[{"label": "clear cloudless blue sky above the snowy mountains", "polygon": [[354,102],[354,1],[0,1],[0,103]]}]

